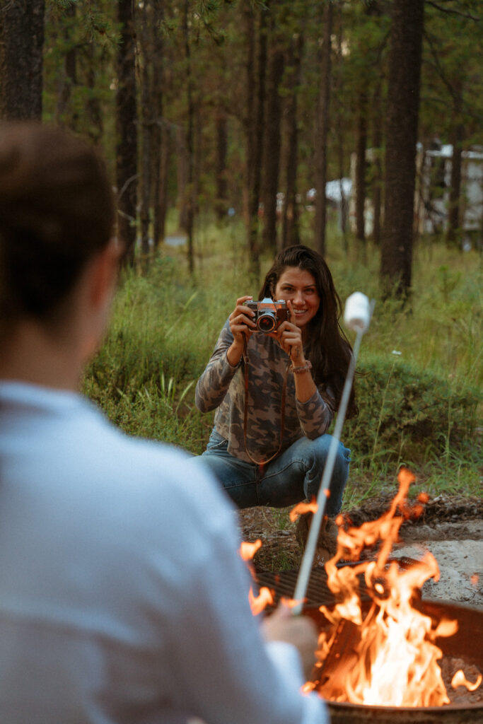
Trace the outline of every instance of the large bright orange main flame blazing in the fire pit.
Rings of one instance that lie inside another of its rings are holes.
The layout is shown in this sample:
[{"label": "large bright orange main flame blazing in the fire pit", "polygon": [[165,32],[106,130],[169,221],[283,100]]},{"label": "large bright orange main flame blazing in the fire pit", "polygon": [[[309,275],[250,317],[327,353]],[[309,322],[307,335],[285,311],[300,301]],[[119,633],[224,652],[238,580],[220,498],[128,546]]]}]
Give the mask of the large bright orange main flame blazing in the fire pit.
[{"label": "large bright orange main flame blazing in the fire pit", "polygon": [[[410,507],[406,502],[414,476],[402,469],[398,481],[398,494],[379,520],[345,530],[343,518],[337,519],[337,553],[325,569],[338,602],[331,609],[320,607],[332,626],[319,636],[319,662],[314,681],[306,684],[305,691],[317,689],[326,699],[354,704],[424,707],[450,703],[437,663],[442,650],[435,640],[452,636],[458,622],[434,623],[417,608],[421,586],[440,576],[437,561],[427,552],[421,561],[400,571],[398,563],[389,560],[403,518],[419,513],[418,505]],[[427,502],[424,495],[420,502]],[[396,515],[398,510],[400,515]],[[340,559],[358,561],[362,549],[377,542],[377,560],[337,568]],[[369,611],[361,605],[358,576],[364,576],[372,598]],[[340,644],[343,650],[337,650]],[[456,686],[469,684],[463,672],[455,680]],[[479,683],[481,677],[469,686],[476,688]]]}]

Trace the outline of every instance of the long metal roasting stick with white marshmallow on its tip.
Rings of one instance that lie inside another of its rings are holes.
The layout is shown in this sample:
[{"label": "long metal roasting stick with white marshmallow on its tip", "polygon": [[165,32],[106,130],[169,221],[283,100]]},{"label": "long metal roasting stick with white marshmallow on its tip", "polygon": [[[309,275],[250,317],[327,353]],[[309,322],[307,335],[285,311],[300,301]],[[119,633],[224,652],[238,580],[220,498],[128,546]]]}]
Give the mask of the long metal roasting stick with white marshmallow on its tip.
[{"label": "long metal roasting stick with white marshmallow on its tip", "polygon": [[362,335],[369,328],[373,309],[374,300],[371,300],[369,303],[369,299],[361,292],[354,292],[351,294],[345,303],[344,321],[349,329],[354,329],[356,331],[356,342],[354,343],[353,355],[350,358],[347,375],[345,377],[345,384],[342,397],[340,398],[337,420],[335,421],[334,432],[332,433],[332,440],[329,445],[327,462],[325,463],[322,482],[320,484],[319,493],[317,494],[317,510],[314,513],[310,529],[308,530],[306,550],[303,552],[301,568],[298,572],[297,584],[293,594],[294,600],[297,601],[295,606],[292,608],[292,613],[294,615],[301,613],[303,601],[306,597],[308,579],[310,578],[317,539],[319,538],[319,530],[322,518],[324,517],[327,492],[329,490],[330,479],[332,478],[332,471],[334,470],[337,445],[340,441],[340,433],[342,432],[345,412],[347,411],[353,376],[356,371],[357,356],[361,346]]}]

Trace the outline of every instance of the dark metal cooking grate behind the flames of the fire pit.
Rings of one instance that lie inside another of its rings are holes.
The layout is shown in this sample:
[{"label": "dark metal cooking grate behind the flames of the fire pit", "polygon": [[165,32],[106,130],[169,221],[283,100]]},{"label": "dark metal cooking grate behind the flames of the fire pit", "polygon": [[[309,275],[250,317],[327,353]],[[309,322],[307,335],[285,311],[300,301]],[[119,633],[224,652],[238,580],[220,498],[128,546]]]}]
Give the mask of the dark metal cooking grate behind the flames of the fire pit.
[{"label": "dark metal cooking grate behind the flames of the fire pit", "polygon": [[[396,560],[400,568],[410,568],[411,565],[416,563],[415,560],[408,557],[401,557]],[[338,563],[337,567],[342,568],[345,565],[358,565],[359,561],[342,562]],[[390,563],[390,561],[388,561]],[[298,568],[290,571],[261,571],[255,569],[256,583],[261,586],[266,586],[274,594],[273,607],[276,607],[281,598],[293,598],[295,592],[295,586],[298,578]],[[359,580],[359,592],[361,595],[361,601],[370,601],[371,597],[367,592],[366,582],[364,576],[358,576]],[[314,566],[311,571],[310,578],[308,579],[307,593],[305,607],[319,607],[319,606],[334,606],[336,603],[335,596],[327,586],[327,573],[323,566]]]}]

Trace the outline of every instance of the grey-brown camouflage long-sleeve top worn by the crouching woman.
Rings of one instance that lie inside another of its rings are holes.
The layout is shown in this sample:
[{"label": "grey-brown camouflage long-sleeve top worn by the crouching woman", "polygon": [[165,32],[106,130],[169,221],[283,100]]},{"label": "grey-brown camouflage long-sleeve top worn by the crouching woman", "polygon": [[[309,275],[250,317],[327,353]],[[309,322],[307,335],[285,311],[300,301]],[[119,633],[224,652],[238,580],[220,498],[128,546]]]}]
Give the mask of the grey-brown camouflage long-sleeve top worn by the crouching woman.
[{"label": "grey-brown camouflage long-sleeve top worn by the crouching woman", "polygon": [[[196,405],[201,412],[217,408],[214,426],[228,441],[228,452],[251,462],[243,439],[245,404],[245,363],[232,367],[227,350],[233,342],[228,321],[219,334],[214,353],[196,385]],[[255,460],[266,460],[280,445],[282,386],[288,355],[277,340],[256,332],[248,340],[248,421],[246,445]],[[285,426],[280,452],[305,435],[309,439],[324,434],[335,409],[333,394],[322,385],[306,403],[295,397],[293,373],[287,375]]]}]

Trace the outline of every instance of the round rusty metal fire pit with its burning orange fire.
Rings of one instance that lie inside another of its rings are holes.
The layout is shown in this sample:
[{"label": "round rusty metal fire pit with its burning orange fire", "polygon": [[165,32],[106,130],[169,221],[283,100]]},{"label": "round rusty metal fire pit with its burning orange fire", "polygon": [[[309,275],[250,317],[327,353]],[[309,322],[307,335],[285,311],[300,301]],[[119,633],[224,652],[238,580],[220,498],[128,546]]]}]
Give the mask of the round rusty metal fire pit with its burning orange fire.
[{"label": "round rusty metal fire pit with its burning orange fire", "polygon": [[[358,529],[341,519],[337,554],[311,572],[303,613],[319,644],[305,689],[327,700],[339,724],[483,723],[483,610],[421,599],[424,582],[440,575],[430,552],[390,557],[413,476],[398,479],[390,510]],[[361,559],[367,546],[372,560]],[[293,597],[296,573],[256,572],[264,605]]]}]

